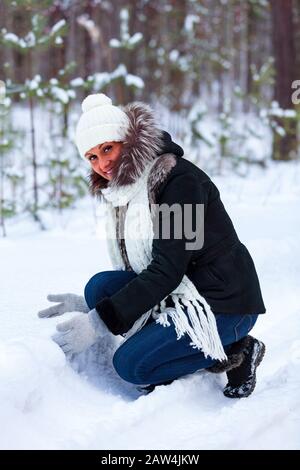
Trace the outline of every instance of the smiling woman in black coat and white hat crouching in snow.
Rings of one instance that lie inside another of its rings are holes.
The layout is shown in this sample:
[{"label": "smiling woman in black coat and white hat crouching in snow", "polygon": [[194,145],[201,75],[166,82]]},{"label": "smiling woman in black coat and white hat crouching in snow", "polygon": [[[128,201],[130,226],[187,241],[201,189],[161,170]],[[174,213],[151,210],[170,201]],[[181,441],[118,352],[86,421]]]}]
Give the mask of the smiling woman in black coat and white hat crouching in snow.
[{"label": "smiling woman in black coat and white hat crouching in snow", "polygon": [[114,269],[95,274],[85,298],[48,296],[61,303],[41,317],[83,312],[58,324],[54,341],[73,354],[122,335],[113,365],[146,391],[207,369],[226,371],[225,396],[249,396],[265,346],[248,333],[266,310],[217,187],[147,104],[116,107],[95,94],[82,111],[76,144],[91,166],[91,194],[106,205]]}]

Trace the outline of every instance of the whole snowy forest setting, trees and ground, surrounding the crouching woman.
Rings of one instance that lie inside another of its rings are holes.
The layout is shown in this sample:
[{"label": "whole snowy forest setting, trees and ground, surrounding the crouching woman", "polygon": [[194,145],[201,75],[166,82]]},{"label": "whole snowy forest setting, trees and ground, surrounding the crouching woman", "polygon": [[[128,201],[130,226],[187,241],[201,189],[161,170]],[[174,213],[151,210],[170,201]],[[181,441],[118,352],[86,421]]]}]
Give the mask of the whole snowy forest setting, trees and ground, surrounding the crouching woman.
[{"label": "whole snowy forest setting, trees and ground, surrounding the crouching woman", "polygon": [[[244,401],[203,371],[140,394],[119,337],[68,361],[37,317],[111,269],[74,140],[91,93],[148,103],[220,189],[267,309]],[[299,209],[300,0],[0,0],[0,448],[299,449]]]}]

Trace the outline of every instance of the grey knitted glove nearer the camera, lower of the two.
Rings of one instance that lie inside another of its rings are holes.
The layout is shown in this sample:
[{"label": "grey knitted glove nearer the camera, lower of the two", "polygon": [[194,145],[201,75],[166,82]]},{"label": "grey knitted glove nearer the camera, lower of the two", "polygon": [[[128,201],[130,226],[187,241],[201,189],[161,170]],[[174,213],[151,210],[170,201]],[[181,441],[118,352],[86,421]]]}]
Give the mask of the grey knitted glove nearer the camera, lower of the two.
[{"label": "grey knitted glove nearer the camera, lower of the two", "polygon": [[106,336],[109,330],[94,308],[87,315],[80,314],[56,325],[58,333],[52,336],[64,353],[80,353]]}]

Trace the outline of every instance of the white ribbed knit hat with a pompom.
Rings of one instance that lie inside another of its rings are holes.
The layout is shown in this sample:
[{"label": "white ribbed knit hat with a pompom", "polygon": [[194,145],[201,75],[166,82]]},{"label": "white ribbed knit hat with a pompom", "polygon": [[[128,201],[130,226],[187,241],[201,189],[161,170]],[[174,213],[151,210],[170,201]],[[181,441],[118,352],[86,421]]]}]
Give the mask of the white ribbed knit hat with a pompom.
[{"label": "white ribbed knit hat with a pompom", "polygon": [[75,141],[80,155],[103,142],[124,140],[129,126],[127,114],[103,93],[88,95],[81,103],[82,115],[76,126]]}]

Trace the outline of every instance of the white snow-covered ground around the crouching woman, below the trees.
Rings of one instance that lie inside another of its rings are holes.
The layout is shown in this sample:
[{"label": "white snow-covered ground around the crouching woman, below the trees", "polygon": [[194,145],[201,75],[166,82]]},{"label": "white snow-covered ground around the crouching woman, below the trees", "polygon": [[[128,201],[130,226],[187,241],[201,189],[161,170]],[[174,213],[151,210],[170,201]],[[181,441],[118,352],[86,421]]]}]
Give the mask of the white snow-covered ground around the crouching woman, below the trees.
[{"label": "white snow-covered ground around the crouching woman, below the trees", "polygon": [[230,400],[224,375],[199,371],[143,395],[113,370],[115,338],[66,362],[50,339],[61,318],[37,311],[110,269],[86,198],[62,220],[47,214],[47,232],[24,219],[0,239],[2,449],[299,449],[300,164],[213,179],[267,307],[253,330],[267,346],[255,392]]}]

